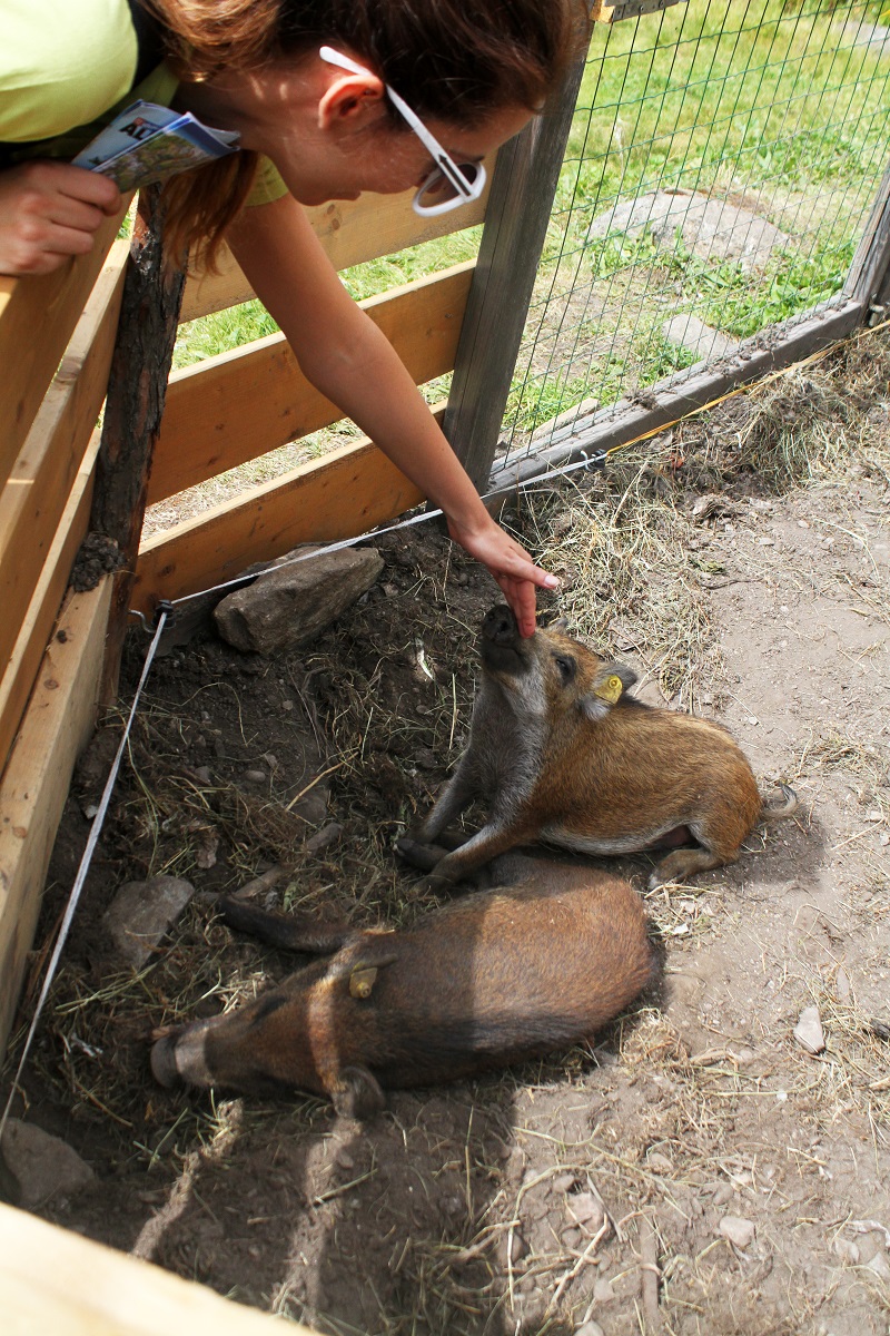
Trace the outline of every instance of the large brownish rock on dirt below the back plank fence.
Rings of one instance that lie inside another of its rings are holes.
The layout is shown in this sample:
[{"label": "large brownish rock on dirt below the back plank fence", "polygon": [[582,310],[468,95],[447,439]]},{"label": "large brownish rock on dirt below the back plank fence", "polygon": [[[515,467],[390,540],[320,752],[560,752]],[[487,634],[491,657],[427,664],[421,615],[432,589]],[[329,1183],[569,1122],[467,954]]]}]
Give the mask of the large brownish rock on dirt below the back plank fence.
[{"label": "large brownish rock on dirt below the back plank fence", "polygon": [[244,652],[274,655],[307,645],[360,599],[382,570],[383,557],[375,548],[343,548],[282,565],[223,599],[213,621],[223,640]]}]

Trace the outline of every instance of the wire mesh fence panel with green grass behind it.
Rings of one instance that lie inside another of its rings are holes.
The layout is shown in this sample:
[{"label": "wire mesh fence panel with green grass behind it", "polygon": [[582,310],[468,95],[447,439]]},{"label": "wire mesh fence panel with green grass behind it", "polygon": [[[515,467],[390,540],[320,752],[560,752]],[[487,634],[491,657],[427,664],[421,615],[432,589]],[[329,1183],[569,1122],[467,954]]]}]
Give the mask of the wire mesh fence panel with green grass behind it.
[{"label": "wire mesh fence panel with green grass behind it", "polygon": [[889,81],[890,11],[867,3],[596,24],[499,462],[841,302],[890,159]]}]

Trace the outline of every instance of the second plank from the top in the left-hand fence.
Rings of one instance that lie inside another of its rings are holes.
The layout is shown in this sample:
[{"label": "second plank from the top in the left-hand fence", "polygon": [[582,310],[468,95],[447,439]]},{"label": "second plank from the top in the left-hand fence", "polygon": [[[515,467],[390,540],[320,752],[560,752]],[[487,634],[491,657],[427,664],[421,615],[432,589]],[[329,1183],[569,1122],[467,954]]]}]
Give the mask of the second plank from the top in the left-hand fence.
[{"label": "second plank from the top in the left-hand fence", "polygon": [[[0,665],[80,470],[108,383],[129,246],[115,242],[7,486],[0,492]],[[1,754],[0,754],[1,755]]]}]

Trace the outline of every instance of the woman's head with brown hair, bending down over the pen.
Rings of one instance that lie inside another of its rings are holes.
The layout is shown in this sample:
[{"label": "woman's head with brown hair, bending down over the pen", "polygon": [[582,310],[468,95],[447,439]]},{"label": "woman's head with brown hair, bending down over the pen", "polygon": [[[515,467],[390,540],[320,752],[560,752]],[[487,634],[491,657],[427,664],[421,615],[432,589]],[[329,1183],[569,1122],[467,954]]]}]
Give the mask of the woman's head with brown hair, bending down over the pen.
[{"label": "woman's head with brown hair, bending down over the pen", "polygon": [[[311,126],[306,118],[300,124],[290,108],[287,114],[280,108],[274,112],[272,140],[268,134],[266,139],[254,135],[251,144],[251,135],[243,134],[244,146],[271,156],[292,194],[304,203],[354,198],[359,188],[387,192],[416,184],[416,172],[411,174],[416,144],[392,99],[383,95],[384,87],[404,99],[424,123],[447,130],[448,138],[443,140],[447,148],[454,144],[458,150],[467,148],[471,156],[482,156],[515,134],[540,107],[583,49],[587,36],[584,0],[141,3],[160,16],[181,77],[192,87],[204,83],[207,94],[212,90],[224,94],[232,80],[240,80],[242,87],[246,81],[268,90],[282,83],[287,87],[290,68],[306,71],[307,61],[323,64],[319,57],[323,45],[348,53],[372,73],[379,83],[376,96],[383,118],[378,124],[388,126],[390,132],[383,142],[379,134],[364,143],[350,143],[340,136],[343,152],[323,154],[320,171],[318,155],[315,162],[311,156],[312,135],[306,134]],[[343,75],[347,83],[348,77]],[[370,86],[362,100],[374,98]],[[212,115],[212,103],[209,111]],[[264,111],[268,112],[268,104]],[[323,120],[322,103],[314,119]],[[363,119],[367,118],[351,118],[352,124]],[[223,119],[215,123],[244,128]],[[478,140],[475,152],[467,136]],[[336,135],[328,135],[328,142],[330,148],[338,148]],[[242,152],[168,182],[164,191],[168,235],[176,250],[197,244],[212,265],[228,223],[250,192],[255,163],[256,154]],[[430,170],[423,154],[420,163]]]}]

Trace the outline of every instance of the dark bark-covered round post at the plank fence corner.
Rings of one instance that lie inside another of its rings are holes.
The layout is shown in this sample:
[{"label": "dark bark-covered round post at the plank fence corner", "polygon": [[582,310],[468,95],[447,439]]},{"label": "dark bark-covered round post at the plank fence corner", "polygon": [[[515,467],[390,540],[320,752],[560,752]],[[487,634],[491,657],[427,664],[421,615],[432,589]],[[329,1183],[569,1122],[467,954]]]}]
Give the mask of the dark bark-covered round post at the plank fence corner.
[{"label": "dark bark-covered round post at the plank fence corner", "polygon": [[89,520],[91,536],[111,540],[123,562],[108,620],[103,704],[111,704],[117,695],[148,474],[185,282],[184,269],[164,265],[161,226],[160,190],[149,186],[140,195],[133,230]]}]

